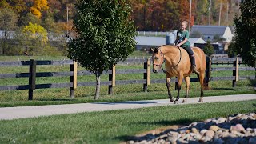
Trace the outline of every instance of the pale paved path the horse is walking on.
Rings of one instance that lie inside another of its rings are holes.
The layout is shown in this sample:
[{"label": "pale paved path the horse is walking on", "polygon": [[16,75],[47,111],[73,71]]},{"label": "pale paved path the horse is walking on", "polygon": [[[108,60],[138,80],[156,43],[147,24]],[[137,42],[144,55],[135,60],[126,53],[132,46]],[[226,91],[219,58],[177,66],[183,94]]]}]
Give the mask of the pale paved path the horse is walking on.
[{"label": "pale paved path the horse is walking on", "polygon": [[[199,98],[189,98],[186,104],[198,103]],[[232,102],[256,99],[256,94],[226,95],[205,97],[204,102]],[[180,103],[182,98],[180,99]],[[169,99],[127,101],[127,102],[95,102],[66,105],[20,106],[0,108],[0,120],[15,118],[34,118],[54,114],[74,114],[89,111],[136,109],[150,106],[174,106]]]}]

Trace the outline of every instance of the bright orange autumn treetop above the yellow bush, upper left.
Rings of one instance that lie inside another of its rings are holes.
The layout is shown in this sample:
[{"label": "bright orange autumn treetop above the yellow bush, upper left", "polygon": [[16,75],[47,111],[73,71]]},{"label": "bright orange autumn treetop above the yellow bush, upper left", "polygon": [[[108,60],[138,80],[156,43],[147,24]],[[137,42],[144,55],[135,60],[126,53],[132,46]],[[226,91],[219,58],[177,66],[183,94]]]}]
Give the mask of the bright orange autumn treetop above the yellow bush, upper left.
[{"label": "bright orange autumn treetop above the yellow bush, upper left", "polygon": [[42,11],[48,10],[49,6],[47,6],[47,0],[34,0],[34,5],[30,7],[30,11],[34,14],[37,18],[42,17]]}]

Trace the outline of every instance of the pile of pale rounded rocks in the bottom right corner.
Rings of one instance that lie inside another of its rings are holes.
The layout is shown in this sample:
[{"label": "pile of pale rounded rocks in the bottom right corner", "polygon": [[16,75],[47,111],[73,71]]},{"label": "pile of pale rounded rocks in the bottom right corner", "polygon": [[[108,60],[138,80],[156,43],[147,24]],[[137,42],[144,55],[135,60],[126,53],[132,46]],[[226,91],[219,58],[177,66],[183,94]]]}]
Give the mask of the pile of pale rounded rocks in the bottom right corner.
[{"label": "pile of pale rounded rocks in the bottom right corner", "polygon": [[160,134],[152,133],[134,137],[126,143],[256,144],[256,114],[235,114],[227,118],[211,118],[204,122],[193,122],[177,130],[165,130]]}]

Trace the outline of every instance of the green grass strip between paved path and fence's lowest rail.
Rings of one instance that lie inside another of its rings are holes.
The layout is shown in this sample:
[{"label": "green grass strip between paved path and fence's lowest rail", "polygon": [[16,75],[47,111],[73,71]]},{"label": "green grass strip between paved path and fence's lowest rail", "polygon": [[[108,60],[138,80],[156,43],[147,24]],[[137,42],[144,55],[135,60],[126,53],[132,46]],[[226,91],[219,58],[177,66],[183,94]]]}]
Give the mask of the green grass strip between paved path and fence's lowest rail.
[{"label": "green grass strip between paved path and fence's lowest rail", "polygon": [[[162,78],[165,78],[164,75]],[[62,81],[59,79],[59,81]],[[50,82],[50,80],[48,80]],[[1,81],[2,82],[2,81]],[[43,83],[42,80],[39,82]],[[38,83],[39,83],[38,82]],[[58,83],[58,80],[56,80]],[[177,96],[177,90],[174,90],[174,82],[170,85],[171,93]],[[186,86],[183,83],[181,97],[185,96]],[[34,100],[28,101],[28,90],[5,90],[0,91],[0,107],[5,106],[34,106],[51,105],[81,102],[115,102],[127,100],[159,99],[168,98],[165,83],[150,84],[148,92],[142,92],[142,84],[129,84],[115,86],[114,94],[108,95],[108,86],[101,87],[101,96],[98,101],[94,101],[94,86],[78,87],[75,89],[73,99],[69,98],[68,88],[58,89],[39,89],[34,90]],[[249,80],[238,81],[236,87],[232,87],[231,81],[213,81],[210,82],[210,90],[204,90],[205,96],[227,95],[227,94],[254,94],[253,84]],[[190,97],[200,95],[199,82],[190,83]]]}]

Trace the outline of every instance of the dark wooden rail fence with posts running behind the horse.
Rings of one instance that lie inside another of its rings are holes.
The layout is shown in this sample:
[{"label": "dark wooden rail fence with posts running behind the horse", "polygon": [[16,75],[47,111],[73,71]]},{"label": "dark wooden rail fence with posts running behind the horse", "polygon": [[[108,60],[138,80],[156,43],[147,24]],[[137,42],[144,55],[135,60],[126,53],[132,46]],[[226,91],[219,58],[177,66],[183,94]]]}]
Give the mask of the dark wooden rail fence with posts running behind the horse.
[{"label": "dark wooden rail fence with posts running behind the horse", "polygon": [[[139,70],[115,70],[113,66],[112,70],[105,71],[103,74],[109,75],[109,81],[101,82],[101,85],[109,86],[109,94],[113,93],[113,86],[126,85],[126,84],[143,84],[143,90],[147,91],[147,86],[150,83],[164,83],[166,80],[163,79],[150,79],[150,59],[149,58],[128,58],[125,62],[119,62],[118,64],[144,64],[144,69]],[[236,85],[236,82],[240,79],[254,79],[255,76],[239,77],[239,70],[255,70],[252,67],[239,67],[242,64],[242,58],[206,58],[206,78],[205,83],[208,86],[210,81],[219,80],[232,80],[232,86]],[[212,68],[211,65],[218,64],[233,64],[233,67],[218,67]],[[36,72],[36,66],[42,65],[70,65],[70,71],[66,72]],[[77,76],[91,75],[87,70],[77,70],[77,62],[71,60],[59,60],[59,61],[18,61],[18,62],[0,62],[1,66],[29,66],[29,73],[16,73],[16,74],[0,74],[1,78],[29,78],[28,85],[19,86],[0,86],[0,90],[29,90],[29,100],[33,99],[33,92],[36,89],[46,88],[70,88],[70,98],[74,98],[74,89],[77,86],[94,86],[95,82],[77,82]],[[233,71],[233,75],[230,77],[211,77],[211,72],[218,71]],[[162,70],[160,70],[161,72]],[[116,81],[116,74],[143,74],[142,80],[118,80]],[[70,82],[66,83],[46,83],[36,84],[35,78],[38,77],[70,77]],[[177,82],[177,78],[171,79],[171,82]],[[190,82],[198,82],[198,78],[190,78]]]}]

